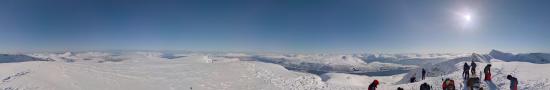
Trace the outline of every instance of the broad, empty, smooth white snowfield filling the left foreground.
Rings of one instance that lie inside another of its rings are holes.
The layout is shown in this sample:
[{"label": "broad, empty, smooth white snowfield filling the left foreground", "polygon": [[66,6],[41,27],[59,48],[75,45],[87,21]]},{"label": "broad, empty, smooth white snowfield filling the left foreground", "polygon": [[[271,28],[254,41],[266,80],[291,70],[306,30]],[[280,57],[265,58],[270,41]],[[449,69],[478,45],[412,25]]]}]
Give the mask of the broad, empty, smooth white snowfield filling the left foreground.
[{"label": "broad, empty, smooth white snowfield filling the left foreground", "polygon": [[[205,56],[172,61],[24,62],[0,64],[1,89],[24,90],[281,90],[318,89],[318,76],[258,62],[207,63]],[[230,69],[229,69],[230,68]],[[20,74],[23,73],[23,74]]]}]

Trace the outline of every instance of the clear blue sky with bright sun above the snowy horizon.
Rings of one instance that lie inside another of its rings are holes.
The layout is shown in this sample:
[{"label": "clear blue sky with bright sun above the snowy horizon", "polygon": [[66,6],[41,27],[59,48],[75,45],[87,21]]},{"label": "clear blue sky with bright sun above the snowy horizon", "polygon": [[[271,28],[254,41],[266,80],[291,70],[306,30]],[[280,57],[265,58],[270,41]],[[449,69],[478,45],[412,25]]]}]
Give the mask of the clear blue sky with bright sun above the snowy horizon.
[{"label": "clear blue sky with bright sun above the snowy horizon", "polygon": [[548,52],[548,16],[547,0],[2,0],[0,50]]}]

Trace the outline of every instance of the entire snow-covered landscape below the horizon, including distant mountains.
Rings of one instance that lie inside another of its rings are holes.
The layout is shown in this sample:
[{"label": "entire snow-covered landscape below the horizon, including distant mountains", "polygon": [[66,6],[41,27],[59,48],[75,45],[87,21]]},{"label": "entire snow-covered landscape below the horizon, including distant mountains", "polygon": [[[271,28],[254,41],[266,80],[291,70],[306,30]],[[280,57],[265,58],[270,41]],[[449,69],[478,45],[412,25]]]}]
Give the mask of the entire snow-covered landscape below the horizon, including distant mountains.
[{"label": "entire snow-covered landscape below the horizon, including distant mountains", "polygon": [[[442,79],[464,89],[462,65],[478,72],[492,64],[489,90],[506,90],[519,79],[521,90],[550,89],[550,55],[512,54],[265,54],[166,52],[66,52],[0,55],[3,90],[380,90],[419,89]],[[428,77],[420,80],[420,70]],[[322,72],[322,73],[316,73]],[[416,75],[418,82],[408,83]],[[479,75],[476,75],[479,76]]]}]

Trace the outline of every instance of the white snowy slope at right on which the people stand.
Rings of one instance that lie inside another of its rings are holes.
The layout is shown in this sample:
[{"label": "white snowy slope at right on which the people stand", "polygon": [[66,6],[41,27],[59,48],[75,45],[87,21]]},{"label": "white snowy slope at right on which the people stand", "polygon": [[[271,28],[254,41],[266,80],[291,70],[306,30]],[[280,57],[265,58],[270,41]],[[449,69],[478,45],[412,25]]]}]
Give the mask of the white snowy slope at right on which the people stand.
[{"label": "white snowy slope at right on which the people stand", "polygon": [[[360,76],[360,75],[351,75],[351,74],[334,74],[329,73],[323,75],[324,81],[329,85],[329,87],[338,87],[336,89],[366,89],[367,86],[372,82],[372,80],[381,81],[379,89],[381,90],[392,90],[397,87],[402,87],[406,90],[417,90],[422,83],[428,83],[435,90],[441,89],[442,80],[445,78],[451,78],[455,80],[456,87],[458,90],[465,90],[465,82],[462,79],[462,65],[470,61],[468,60],[456,60],[449,61],[445,63],[440,63],[439,65],[434,66],[425,66],[425,68],[431,67],[431,69],[437,68],[439,71],[430,71],[428,70],[428,77],[425,80],[420,80],[420,73],[413,71],[407,74],[392,75],[392,76]],[[481,72],[481,69],[487,65],[487,63],[477,62],[478,64],[478,75]],[[493,59],[490,62],[493,72],[493,80],[489,82],[482,81],[482,86],[488,90],[507,90],[509,89],[510,81],[506,79],[506,75],[513,75],[519,79],[519,89],[520,90],[546,90],[550,89],[550,72],[545,72],[550,64],[533,64],[527,62],[504,62],[502,60]],[[458,69],[460,68],[460,69]],[[444,73],[443,73],[444,72]],[[410,75],[417,73],[418,82],[408,83]],[[438,73],[441,75],[436,75],[433,73]],[[326,80],[325,80],[326,79]]]}]

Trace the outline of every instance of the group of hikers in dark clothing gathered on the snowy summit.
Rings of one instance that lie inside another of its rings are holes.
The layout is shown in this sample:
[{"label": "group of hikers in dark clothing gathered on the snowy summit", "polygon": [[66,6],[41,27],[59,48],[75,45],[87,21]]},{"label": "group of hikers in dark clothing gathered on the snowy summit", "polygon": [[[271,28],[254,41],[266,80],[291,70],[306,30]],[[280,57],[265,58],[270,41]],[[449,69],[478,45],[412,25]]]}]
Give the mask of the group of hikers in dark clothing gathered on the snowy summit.
[{"label": "group of hikers in dark clothing gathered on the snowy summit", "polygon": [[[484,69],[483,69],[483,74],[485,76],[485,78],[483,80],[485,81],[491,81],[491,64],[487,64]],[[462,73],[462,77],[465,79],[465,81],[467,81],[468,83],[468,88],[473,88],[473,86],[475,85],[471,85],[471,84],[479,84],[479,77],[475,77],[476,75],[476,67],[477,67],[477,64],[472,60],[472,62],[470,63],[470,65],[468,65],[468,63],[464,63],[464,71]],[[425,76],[426,76],[426,70],[425,69],[422,69],[422,80],[425,79]],[[470,73],[471,75],[473,75],[474,77],[470,77]],[[416,74],[413,74],[413,76],[410,78],[409,82],[411,83],[414,83],[416,82]],[[480,74],[481,76],[481,74]],[[518,90],[518,80],[516,77],[513,77],[512,75],[507,75],[506,76],[506,79],[510,80],[511,84],[510,84],[510,90]],[[477,82],[474,82],[474,81],[477,81]],[[368,90],[376,90],[376,88],[378,88],[378,85],[379,85],[379,81],[378,80],[374,80],[368,87]],[[477,85],[479,87],[479,85]],[[443,80],[443,84],[442,84],[442,89],[443,90],[456,90],[455,88],[455,85],[454,85],[454,80],[450,79],[450,78],[447,78],[445,80]],[[397,90],[404,90],[403,88],[401,87],[398,87]],[[420,85],[420,90],[431,90],[431,86],[427,83],[423,83]]]}]

